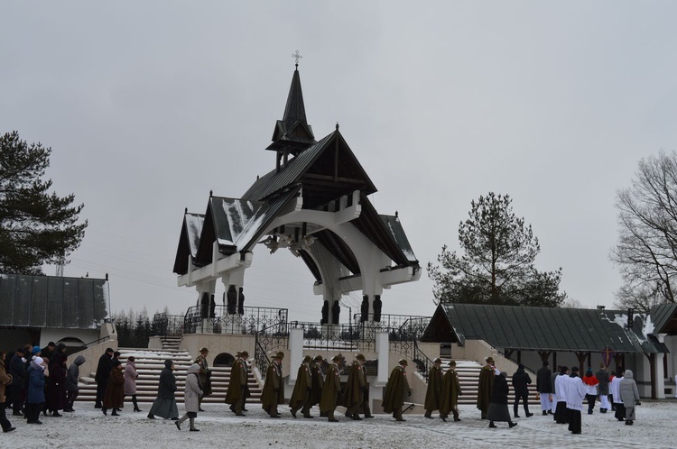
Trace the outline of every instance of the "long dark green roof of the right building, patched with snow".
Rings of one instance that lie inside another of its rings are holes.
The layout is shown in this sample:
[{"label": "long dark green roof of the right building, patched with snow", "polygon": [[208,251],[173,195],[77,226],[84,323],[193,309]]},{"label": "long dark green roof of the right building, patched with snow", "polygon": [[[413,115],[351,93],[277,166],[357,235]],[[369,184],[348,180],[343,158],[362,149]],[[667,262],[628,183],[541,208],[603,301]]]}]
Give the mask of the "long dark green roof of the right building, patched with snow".
[{"label": "long dark green roof of the right building, patched with snow", "polygon": [[[436,319],[436,316],[438,319]],[[450,338],[484,340],[495,348],[518,351],[662,353],[646,332],[647,319],[635,315],[627,328],[623,311],[585,308],[441,304],[423,338],[440,336],[440,317],[450,326]],[[449,340],[447,340],[449,341]]]}]

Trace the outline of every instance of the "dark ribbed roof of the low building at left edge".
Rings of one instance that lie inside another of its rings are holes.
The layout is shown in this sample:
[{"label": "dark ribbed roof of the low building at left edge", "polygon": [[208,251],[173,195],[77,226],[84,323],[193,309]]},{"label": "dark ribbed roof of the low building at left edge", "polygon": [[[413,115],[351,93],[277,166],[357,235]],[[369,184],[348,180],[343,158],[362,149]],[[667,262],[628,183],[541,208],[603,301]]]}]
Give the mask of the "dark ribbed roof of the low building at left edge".
[{"label": "dark ribbed roof of the low building at left edge", "polygon": [[0,325],[97,329],[107,305],[107,279],[0,274]]}]

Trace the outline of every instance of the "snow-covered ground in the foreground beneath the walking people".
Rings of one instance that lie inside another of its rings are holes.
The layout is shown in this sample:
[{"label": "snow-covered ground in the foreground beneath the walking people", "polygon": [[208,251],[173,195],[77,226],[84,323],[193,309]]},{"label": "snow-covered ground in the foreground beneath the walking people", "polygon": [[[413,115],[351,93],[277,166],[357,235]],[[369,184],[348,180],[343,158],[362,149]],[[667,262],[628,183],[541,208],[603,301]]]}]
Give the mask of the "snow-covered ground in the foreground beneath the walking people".
[{"label": "snow-covered ground in the foreground beneath the walking people", "polygon": [[[247,417],[233,416],[225,404],[205,404],[206,411],[196,421],[200,432],[189,432],[188,421],[179,432],[172,421],[148,419],[149,407],[144,404],[144,413],[133,413],[127,404],[122,416],[104,417],[92,403],[76,403],[75,413],[42,417],[42,426],[11,416],[17,429],[0,433],[0,447],[677,447],[677,400],[673,399],[643,401],[635,426],[625,426],[609,413],[584,414],[582,435],[571,435],[565,425],[554,424],[538,409],[532,410],[533,417],[515,419],[519,426],[513,429],[505,423],[490,429],[472,406],[461,406],[459,423],[422,415],[405,415],[405,423],[385,415],[364,421],[338,416],[340,423],[328,423],[319,417],[294,419],[286,406],[280,407],[283,417],[274,419],[254,404],[247,405]],[[179,410],[183,412],[182,405]],[[318,415],[317,408],[312,413]]]}]

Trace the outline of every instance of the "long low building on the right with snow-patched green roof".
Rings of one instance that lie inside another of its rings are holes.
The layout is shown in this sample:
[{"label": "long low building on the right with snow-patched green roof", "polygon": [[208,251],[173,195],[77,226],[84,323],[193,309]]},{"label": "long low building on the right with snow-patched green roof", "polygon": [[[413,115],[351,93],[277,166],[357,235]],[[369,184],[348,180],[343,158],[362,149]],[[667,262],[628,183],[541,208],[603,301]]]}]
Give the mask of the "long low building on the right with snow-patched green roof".
[{"label": "long low building on the right with snow-patched green roof", "polygon": [[470,342],[480,342],[484,346],[472,346],[476,360],[498,353],[532,371],[544,361],[551,367],[579,366],[580,371],[598,371],[603,363],[609,371],[632,370],[643,397],[663,399],[675,392],[677,304],[655,306],[649,314],[441,304],[422,341],[440,343],[441,351],[451,356],[464,352]]}]

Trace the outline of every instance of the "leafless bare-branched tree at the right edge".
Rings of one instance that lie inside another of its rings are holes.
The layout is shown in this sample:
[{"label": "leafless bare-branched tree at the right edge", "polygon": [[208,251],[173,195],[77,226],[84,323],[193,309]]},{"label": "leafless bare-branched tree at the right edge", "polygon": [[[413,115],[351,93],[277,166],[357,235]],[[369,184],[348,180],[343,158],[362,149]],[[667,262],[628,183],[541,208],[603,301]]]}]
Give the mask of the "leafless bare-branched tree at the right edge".
[{"label": "leafless bare-branched tree at the right edge", "polygon": [[616,306],[648,310],[674,302],[677,276],[677,154],[640,160],[630,188],[618,190],[618,243],[611,251],[623,276]]}]

